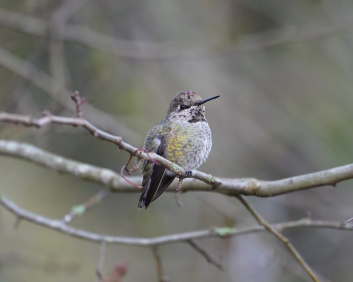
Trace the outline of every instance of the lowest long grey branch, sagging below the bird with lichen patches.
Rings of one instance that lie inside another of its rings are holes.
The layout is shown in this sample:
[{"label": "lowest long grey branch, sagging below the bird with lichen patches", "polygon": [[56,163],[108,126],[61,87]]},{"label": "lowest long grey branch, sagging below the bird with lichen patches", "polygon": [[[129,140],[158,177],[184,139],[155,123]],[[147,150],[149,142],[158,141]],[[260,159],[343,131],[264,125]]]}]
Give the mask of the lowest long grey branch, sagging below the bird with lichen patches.
[{"label": "lowest long grey branch, sagging below the bird with lichen patches", "polygon": [[[96,243],[105,242],[106,244],[115,245],[134,245],[142,247],[151,247],[154,245],[163,245],[175,242],[185,242],[189,240],[210,238],[210,237],[229,237],[238,236],[242,234],[264,232],[266,229],[263,226],[250,226],[243,228],[229,228],[229,227],[216,227],[211,229],[204,229],[186,233],[170,234],[165,236],[159,236],[154,238],[146,237],[121,237],[121,236],[108,236],[97,233],[92,233],[80,229],[68,226],[62,220],[49,219],[28,210],[21,208],[7,197],[0,195],[0,205],[4,206],[10,213],[14,214],[16,217],[21,218],[24,221],[31,222],[35,225],[42,226],[47,229],[54,230],[56,232],[69,235],[72,237],[80,238],[87,241],[92,241]],[[353,231],[353,228],[344,226],[341,222],[332,221],[314,221],[311,219],[301,219],[298,221],[284,222],[273,224],[272,227],[278,232],[284,229],[309,227],[309,228],[327,228],[327,229],[337,229],[337,230],[348,230]]]}]

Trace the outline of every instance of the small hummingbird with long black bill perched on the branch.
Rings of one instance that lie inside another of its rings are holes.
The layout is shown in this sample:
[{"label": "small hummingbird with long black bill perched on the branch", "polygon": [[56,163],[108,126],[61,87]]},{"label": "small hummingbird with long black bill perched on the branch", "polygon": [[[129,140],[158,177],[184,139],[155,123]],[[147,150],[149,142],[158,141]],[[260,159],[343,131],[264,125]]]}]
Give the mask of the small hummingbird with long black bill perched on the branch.
[{"label": "small hummingbird with long black bill perched on the branch", "polygon": [[[144,149],[181,166],[186,171],[186,177],[191,177],[192,170],[206,161],[212,147],[204,104],[219,96],[202,100],[191,90],[175,94],[165,118],[148,131]],[[175,174],[150,160],[144,161],[142,173],[138,206],[147,208],[168,188]]]}]

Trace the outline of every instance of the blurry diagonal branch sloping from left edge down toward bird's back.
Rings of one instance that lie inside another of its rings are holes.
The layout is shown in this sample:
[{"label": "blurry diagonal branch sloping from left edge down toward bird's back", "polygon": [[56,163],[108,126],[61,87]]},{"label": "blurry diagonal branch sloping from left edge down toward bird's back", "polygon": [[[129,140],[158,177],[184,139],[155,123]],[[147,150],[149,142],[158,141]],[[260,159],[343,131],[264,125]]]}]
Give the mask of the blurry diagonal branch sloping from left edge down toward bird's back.
[{"label": "blurry diagonal branch sloping from left edge down toward bird's back", "polygon": [[[60,89],[60,84],[58,84],[46,73],[37,69],[33,64],[23,61],[21,58],[15,56],[9,51],[0,48],[0,65],[3,65],[15,74],[32,82],[36,87],[47,93],[51,98],[63,105],[65,108],[72,112],[76,112],[75,105],[67,99],[67,97],[70,97],[71,92],[65,89],[65,95],[54,95],[52,92],[52,87]],[[140,137],[132,129],[120,122],[117,117],[113,117],[110,114],[102,112],[88,103],[86,103],[85,107],[88,111],[87,117],[94,119],[101,128],[104,128],[110,132],[119,131],[122,135],[126,136],[126,138],[132,140]]]}]

